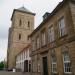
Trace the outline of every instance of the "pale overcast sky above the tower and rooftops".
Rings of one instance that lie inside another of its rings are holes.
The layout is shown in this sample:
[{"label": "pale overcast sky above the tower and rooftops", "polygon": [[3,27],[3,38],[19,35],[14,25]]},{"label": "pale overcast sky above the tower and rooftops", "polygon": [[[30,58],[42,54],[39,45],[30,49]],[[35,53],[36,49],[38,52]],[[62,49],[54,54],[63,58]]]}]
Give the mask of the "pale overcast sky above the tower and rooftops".
[{"label": "pale overcast sky above the tower and rooftops", "polygon": [[11,26],[13,9],[26,7],[36,13],[35,28],[42,22],[45,12],[52,12],[56,5],[62,0],[0,0],[0,61],[7,54],[8,29]]}]

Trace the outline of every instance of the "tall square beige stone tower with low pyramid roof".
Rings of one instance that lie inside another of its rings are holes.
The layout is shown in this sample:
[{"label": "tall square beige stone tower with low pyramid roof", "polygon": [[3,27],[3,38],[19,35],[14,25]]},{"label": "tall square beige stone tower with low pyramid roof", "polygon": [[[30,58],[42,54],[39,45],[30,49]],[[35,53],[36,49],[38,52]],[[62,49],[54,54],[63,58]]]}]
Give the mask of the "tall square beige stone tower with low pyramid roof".
[{"label": "tall square beige stone tower with low pyramid roof", "polygon": [[34,30],[34,16],[35,14],[25,7],[13,11],[8,37],[8,69],[15,67],[15,56],[30,43],[28,35]]}]

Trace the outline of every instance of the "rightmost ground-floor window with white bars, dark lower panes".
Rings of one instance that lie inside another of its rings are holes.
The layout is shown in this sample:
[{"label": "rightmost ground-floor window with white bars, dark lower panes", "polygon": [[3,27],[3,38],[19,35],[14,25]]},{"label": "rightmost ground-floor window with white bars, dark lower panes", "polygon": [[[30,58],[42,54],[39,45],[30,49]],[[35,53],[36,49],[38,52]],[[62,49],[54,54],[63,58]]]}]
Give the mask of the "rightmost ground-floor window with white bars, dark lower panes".
[{"label": "rightmost ground-floor window with white bars, dark lower panes", "polygon": [[63,53],[63,64],[64,64],[64,73],[71,73],[71,62],[68,52]]}]

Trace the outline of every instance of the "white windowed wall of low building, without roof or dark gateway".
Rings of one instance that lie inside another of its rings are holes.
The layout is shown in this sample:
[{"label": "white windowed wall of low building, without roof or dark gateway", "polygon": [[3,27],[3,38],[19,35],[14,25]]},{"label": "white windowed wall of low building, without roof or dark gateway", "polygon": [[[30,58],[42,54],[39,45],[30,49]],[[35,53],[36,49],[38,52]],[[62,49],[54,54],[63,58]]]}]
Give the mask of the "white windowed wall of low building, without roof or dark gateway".
[{"label": "white windowed wall of low building, without roof or dark gateway", "polygon": [[31,60],[31,58],[29,57],[29,48],[23,50],[19,55],[17,55],[16,68],[24,71],[24,61],[25,60]]}]

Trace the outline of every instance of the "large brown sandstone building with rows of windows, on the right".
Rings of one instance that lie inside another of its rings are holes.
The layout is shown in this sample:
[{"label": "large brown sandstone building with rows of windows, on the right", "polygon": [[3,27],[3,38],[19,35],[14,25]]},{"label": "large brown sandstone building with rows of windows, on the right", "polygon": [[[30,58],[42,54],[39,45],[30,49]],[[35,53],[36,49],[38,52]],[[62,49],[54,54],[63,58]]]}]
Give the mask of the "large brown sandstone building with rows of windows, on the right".
[{"label": "large brown sandstone building with rows of windows, on the right", "polygon": [[75,75],[75,0],[63,0],[31,33],[32,75]]}]

